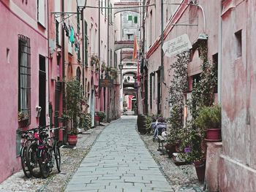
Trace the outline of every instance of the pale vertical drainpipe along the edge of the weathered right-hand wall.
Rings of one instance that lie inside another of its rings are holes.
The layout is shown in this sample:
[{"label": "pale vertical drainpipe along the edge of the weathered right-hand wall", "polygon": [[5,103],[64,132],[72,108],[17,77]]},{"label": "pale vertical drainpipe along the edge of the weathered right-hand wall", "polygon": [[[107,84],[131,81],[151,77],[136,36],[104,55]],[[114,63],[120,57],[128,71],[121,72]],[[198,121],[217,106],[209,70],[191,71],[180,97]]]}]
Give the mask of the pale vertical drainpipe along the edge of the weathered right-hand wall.
[{"label": "pale vertical drainpipe along the edge of the weathered right-hand wall", "polygon": [[222,104],[222,2],[219,3],[218,102]]}]

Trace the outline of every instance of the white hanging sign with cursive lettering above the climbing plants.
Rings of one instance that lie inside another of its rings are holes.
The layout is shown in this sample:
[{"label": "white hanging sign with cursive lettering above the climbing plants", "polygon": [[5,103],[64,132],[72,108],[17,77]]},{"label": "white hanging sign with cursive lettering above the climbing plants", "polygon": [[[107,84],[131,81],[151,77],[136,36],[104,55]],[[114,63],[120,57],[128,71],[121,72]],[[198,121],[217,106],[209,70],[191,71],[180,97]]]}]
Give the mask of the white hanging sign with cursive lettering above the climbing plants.
[{"label": "white hanging sign with cursive lettering above the climbing plants", "polygon": [[162,46],[162,50],[167,57],[177,55],[178,53],[182,53],[191,48],[192,45],[187,34],[183,34],[175,39],[171,39],[170,41],[165,42]]}]

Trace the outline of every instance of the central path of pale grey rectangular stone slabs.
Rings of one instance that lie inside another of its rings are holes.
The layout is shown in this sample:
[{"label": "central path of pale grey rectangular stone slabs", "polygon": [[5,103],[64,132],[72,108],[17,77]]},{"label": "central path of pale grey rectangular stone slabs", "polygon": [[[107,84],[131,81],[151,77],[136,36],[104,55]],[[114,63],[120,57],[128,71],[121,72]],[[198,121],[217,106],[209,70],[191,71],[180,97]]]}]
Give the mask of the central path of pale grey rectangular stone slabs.
[{"label": "central path of pale grey rectangular stone slabs", "polygon": [[135,130],[136,118],[102,131],[66,191],[173,191]]}]

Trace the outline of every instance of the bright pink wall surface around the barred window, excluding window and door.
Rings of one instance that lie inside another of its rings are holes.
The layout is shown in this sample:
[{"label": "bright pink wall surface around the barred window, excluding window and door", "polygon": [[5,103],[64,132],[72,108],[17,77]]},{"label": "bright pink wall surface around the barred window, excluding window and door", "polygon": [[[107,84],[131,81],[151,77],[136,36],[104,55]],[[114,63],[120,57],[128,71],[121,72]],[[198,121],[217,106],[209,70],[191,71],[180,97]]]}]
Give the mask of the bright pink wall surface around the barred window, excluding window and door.
[{"label": "bright pink wall surface around the barred window, excluding window and door", "polygon": [[[31,125],[37,126],[35,107],[39,104],[39,54],[47,57],[47,33],[37,25],[35,15],[26,12],[34,3],[20,5],[16,9],[12,1],[0,1],[0,183],[20,169],[20,158],[16,157],[16,131],[18,129],[18,34],[30,38],[31,42]],[[26,7],[28,6],[28,7]],[[26,7],[26,8],[24,8]],[[26,9],[26,12],[23,12]],[[30,18],[30,16],[33,16]],[[10,49],[10,64],[7,63],[7,48]],[[47,59],[46,59],[47,65]]]}]

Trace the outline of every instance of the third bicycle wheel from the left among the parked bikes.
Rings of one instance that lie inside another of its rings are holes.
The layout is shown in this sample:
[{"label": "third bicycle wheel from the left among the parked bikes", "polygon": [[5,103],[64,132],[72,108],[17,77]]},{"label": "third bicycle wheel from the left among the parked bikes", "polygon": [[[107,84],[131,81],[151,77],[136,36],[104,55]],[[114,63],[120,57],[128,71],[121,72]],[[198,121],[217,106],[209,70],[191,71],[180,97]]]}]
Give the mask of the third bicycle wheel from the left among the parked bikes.
[{"label": "third bicycle wheel from the left among the parked bikes", "polygon": [[43,178],[47,178],[50,174],[50,155],[48,150],[42,149],[39,158],[39,168]]}]

